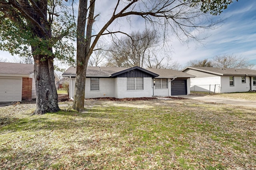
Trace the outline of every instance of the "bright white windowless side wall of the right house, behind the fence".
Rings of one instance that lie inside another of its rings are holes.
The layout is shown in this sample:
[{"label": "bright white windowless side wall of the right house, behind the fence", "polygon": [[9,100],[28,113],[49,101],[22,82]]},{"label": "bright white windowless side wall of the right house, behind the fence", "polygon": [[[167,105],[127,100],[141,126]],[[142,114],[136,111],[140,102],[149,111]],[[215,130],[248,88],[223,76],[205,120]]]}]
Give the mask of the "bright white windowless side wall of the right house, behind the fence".
[{"label": "bright white windowless side wall of the right house, behind the fence", "polygon": [[[229,82],[228,82],[229,83]],[[221,78],[220,76],[204,77],[204,78],[190,78],[190,90],[201,92],[214,92],[220,93],[221,91]]]}]

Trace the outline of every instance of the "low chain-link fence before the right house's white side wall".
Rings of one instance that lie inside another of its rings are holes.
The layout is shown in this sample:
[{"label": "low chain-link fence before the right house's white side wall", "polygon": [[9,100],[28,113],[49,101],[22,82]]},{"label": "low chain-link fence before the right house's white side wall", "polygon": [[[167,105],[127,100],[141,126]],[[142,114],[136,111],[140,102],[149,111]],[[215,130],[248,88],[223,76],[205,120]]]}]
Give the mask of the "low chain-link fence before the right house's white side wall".
[{"label": "low chain-link fence before the right house's white side wall", "polygon": [[220,84],[190,85],[190,91],[220,93]]}]

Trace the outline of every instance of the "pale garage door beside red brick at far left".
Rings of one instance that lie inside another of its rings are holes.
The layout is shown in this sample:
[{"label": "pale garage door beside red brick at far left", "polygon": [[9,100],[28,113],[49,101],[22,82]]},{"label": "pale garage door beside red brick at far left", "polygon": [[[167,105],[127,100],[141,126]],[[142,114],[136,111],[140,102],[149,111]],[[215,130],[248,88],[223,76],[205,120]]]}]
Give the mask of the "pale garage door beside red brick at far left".
[{"label": "pale garage door beside red brick at far left", "polygon": [[0,102],[17,102],[22,97],[22,79],[0,78]]}]

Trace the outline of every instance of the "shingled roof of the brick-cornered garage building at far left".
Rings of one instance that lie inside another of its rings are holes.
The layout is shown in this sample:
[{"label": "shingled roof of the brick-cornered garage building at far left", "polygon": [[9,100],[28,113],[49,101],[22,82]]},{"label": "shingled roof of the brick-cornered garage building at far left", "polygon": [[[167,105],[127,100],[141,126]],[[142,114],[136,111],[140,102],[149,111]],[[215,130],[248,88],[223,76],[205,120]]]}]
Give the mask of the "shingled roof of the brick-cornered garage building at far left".
[{"label": "shingled roof of the brick-cornered garage building at far left", "polygon": [[0,74],[32,74],[34,64],[0,62]]}]

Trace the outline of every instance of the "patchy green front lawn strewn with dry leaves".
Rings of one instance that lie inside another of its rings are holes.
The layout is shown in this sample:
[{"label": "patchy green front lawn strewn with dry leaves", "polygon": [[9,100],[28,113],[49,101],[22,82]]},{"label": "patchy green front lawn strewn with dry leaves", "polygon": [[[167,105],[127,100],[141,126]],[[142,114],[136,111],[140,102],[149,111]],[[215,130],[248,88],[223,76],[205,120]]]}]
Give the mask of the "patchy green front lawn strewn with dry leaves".
[{"label": "patchy green front lawn strewn with dry leaves", "polygon": [[256,109],[194,100],[86,100],[30,116],[0,107],[0,169],[255,169]]}]

